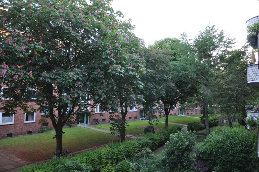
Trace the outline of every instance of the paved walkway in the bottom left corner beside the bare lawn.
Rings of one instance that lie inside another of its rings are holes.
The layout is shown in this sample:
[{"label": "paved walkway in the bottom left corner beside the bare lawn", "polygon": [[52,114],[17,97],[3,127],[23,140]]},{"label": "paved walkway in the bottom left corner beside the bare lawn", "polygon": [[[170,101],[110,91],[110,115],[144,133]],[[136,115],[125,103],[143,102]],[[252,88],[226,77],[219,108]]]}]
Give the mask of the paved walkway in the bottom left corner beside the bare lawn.
[{"label": "paved walkway in the bottom left corner beside the bare lawn", "polygon": [[12,171],[17,167],[23,167],[26,164],[31,164],[32,162],[17,157],[11,153],[0,150],[0,172]]}]

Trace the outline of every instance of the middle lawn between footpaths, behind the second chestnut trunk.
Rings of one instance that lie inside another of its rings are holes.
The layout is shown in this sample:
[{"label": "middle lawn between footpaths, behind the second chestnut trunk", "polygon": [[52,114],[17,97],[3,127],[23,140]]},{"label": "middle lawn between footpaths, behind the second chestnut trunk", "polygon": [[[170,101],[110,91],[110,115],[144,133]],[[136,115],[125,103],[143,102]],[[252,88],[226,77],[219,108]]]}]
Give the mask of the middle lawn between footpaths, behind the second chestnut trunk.
[{"label": "middle lawn between footpaths, behind the second chestnut trunk", "polygon": [[[141,120],[137,120],[137,121],[129,121],[128,122],[129,126],[126,126],[126,134],[140,134],[140,133],[144,133],[144,129],[145,127],[147,127],[148,125],[150,125],[148,123],[148,121],[141,121]],[[173,124],[169,124],[169,125],[173,125]],[[95,128],[99,128],[102,130],[106,130],[106,131],[110,131],[110,124],[101,124],[101,125],[91,125],[91,127],[95,127]],[[154,129],[158,129],[158,128],[164,128],[165,123],[158,123],[158,125],[156,125],[156,123],[153,123]]]}]

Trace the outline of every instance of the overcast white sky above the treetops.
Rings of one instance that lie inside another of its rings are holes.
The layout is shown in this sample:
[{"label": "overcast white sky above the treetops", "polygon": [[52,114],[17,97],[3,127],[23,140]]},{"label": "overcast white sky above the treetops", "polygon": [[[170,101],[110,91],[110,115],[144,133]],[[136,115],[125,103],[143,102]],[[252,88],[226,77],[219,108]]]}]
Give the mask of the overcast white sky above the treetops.
[{"label": "overcast white sky above the treetops", "polygon": [[132,19],[134,33],[146,46],[166,37],[179,38],[182,32],[194,38],[200,29],[215,24],[236,38],[237,49],[246,41],[245,22],[259,15],[258,0],[114,0],[111,4],[124,19]]}]

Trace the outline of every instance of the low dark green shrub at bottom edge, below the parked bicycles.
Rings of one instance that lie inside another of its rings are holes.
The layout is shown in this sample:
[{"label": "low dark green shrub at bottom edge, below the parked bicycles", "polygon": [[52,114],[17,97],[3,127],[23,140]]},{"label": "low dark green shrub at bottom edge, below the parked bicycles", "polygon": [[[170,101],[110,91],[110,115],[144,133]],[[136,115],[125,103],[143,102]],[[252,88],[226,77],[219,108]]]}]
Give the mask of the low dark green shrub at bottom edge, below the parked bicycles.
[{"label": "low dark green shrub at bottom edge, below the parked bicycles", "polygon": [[92,170],[92,167],[86,167],[84,164],[80,163],[79,160],[71,160],[69,162],[67,162],[67,160],[63,160],[62,163],[52,169],[52,172],[90,172]]}]

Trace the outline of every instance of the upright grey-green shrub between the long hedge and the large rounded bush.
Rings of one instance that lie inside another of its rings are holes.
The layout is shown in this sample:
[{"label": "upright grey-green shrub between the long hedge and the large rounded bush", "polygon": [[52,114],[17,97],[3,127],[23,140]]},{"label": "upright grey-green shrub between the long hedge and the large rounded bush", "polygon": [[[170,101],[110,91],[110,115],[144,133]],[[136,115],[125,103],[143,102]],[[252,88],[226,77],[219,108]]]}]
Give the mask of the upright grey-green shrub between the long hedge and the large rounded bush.
[{"label": "upright grey-green shrub between the long hedge and the large rounded bush", "polygon": [[195,162],[194,146],[196,135],[186,128],[171,134],[166,143],[166,151],[162,153],[161,164],[167,170],[184,171]]}]

